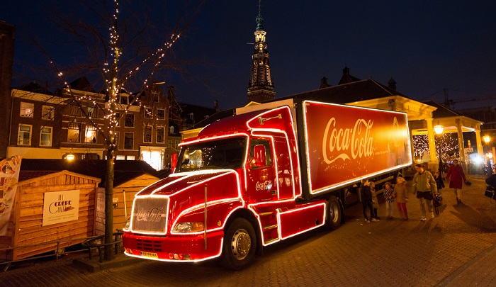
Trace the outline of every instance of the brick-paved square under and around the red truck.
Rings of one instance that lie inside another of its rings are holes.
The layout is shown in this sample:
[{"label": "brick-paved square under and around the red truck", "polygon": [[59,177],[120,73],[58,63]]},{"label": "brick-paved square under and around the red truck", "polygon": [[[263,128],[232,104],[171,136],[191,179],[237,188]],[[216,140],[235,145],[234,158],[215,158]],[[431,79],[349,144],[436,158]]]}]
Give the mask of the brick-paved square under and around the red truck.
[{"label": "brick-paved square under and around the red truck", "polygon": [[[444,188],[435,218],[419,220],[412,194],[407,221],[365,223],[361,205],[355,205],[346,210],[346,224],[338,230],[315,230],[274,244],[242,271],[227,271],[215,261],[143,260],[90,273],[67,258],[0,273],[0,285],[496,286],[496,204],[484,196],[483,177],[468,177],[473,184],[463,186],[463,204]],[[382,204],[379,215],[384,213]]]}]

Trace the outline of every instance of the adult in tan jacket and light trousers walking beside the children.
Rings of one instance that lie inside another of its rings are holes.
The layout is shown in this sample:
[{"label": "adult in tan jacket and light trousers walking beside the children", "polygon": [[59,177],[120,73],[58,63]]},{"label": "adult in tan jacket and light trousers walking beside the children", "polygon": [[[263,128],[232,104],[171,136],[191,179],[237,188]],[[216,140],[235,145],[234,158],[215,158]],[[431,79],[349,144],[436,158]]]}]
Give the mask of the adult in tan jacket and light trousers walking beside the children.
[{"label": "adult in tan jacket and light trousers walking beside the children", "polygon": [[434,198],[434,193],[437,193],[437,185],[434,176],[425,170],[422,164],[415,164],[415,170],[417,173],[413,176],[412,187],[419,199],[420,211],[422,212],[420,220],[425,221],[426,206],[429,213],[431,213],[431,218],[434,218],[432,198]]}]

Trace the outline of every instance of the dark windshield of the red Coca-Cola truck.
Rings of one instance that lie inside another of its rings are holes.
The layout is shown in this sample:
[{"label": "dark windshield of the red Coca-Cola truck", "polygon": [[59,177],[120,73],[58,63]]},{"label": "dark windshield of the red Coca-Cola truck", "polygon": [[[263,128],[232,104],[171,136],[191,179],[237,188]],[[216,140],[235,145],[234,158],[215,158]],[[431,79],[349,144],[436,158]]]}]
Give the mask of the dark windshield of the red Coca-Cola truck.
[{"label": "dark windshield of the red Coca-Cola truck", "polygon": [[233,137],[184,145],[179,154],[176,172],[242,168],[246,142],[246,137]]}]

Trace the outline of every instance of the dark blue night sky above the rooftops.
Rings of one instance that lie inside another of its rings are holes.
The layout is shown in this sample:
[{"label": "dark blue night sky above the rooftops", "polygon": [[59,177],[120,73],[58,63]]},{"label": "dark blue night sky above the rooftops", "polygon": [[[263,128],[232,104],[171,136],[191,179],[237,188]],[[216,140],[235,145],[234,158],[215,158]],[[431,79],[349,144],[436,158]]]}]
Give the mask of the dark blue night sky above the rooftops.
[{"label": "dark blue night sky above the rooftops", "polygon": [[[128,1],[121,1],[123,10]],[[14,85],[50,79],[43,69],[31,72],[47,63],[33,52],[33,34],[64,67],[84,57],[77,50],[61,50],[67,42],[47,18],[55,9],[72,11],[56,2],[3,4],[0,20],[16,25]],[[174,26],[189,3],[143,2],[158,28]],[[257,13],[257,0],[205,3],[174,45],[176,60],[193,63],[184,67],[188,74],[171,71],[165,79],[176,86],[179,101],[213,106],[218,100],[222,109],[247,103],[252,56],[247,43],[254,42]],[[261,13],[276,97],[318,89],[324,75],[329,84],[337,84],[346,64],[359,79],[372,77],[387,85],[393,77],[398,91],[418,101],[442,102],[447,89],[455,101],[493,98],[489,104],[495,105],[496,1],[262,0]],[[487,101],[455,107],[474,104]]]}]

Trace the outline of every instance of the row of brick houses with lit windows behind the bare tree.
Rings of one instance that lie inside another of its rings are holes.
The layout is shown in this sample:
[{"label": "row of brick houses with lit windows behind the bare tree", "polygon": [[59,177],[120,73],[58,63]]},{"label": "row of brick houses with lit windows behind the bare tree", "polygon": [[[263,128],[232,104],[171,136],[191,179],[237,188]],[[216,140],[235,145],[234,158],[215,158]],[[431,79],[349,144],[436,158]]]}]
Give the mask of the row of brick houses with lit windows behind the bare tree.
[{"label": "row of brick houses with lit windows behind the bare tree", "polygon": [[160,86],[122,92],[109,114],[108,96],[83,77],[55,94],[36,85],[12,89],[7,157],[106,159],[109,117],[115,121],[115,159],[144,160],[165,168],[169,102]]}]

